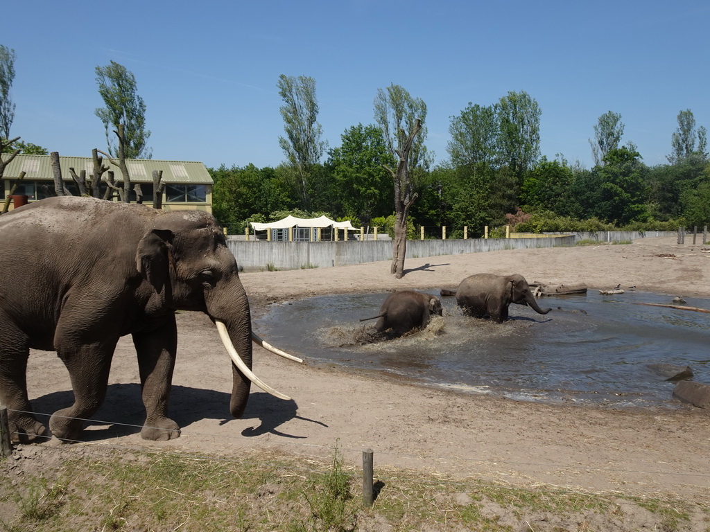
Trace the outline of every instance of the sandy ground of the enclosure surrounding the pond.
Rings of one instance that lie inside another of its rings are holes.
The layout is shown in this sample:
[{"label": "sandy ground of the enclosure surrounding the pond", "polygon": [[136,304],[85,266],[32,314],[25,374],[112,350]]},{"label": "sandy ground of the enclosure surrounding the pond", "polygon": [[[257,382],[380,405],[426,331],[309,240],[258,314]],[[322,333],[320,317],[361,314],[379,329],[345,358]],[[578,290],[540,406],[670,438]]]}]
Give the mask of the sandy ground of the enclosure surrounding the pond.
[{"label": "sandy ground of the enclosure surrounding the pond", "polygon": [[[630,245],[408,258],[399,280],[390,275],[389,262],[253,272],[241,279],[255,315],[271,303],[320,294],[456,287],[476,272],[520,273],[529,282],[586,282],[590,289],[635,285],[638,291],[668,294],[670,302],[674,296],[710,297],[706,252],[710,245],[645,238]],[[361,451],[371,448],[376,475],[378,467],[395,465],[528,486],[710,497],[707,410],[551,406],[459,394],[319,366],[309,362],[308,353],[294,353],[305,358],[297,365],[256,348],[256,374],[293,399],[275,399],[253,387],[244,418],[231,419],[230,362],[212,324],[201,314],[181,313],[178,328],[170,413],[182,436],[153,443],[138,435],[144,416],[138,366],[124,338],[107,400],[94,416],[107,422],[87,428],[87,443],[79,445],[218,455],[277,448],[319,457],[332,457],[337,445],[354,465],[361,463]],[[53,353],[31,356],[28,389],[38,412],[51,413],[72,400],[67,372]]]}]

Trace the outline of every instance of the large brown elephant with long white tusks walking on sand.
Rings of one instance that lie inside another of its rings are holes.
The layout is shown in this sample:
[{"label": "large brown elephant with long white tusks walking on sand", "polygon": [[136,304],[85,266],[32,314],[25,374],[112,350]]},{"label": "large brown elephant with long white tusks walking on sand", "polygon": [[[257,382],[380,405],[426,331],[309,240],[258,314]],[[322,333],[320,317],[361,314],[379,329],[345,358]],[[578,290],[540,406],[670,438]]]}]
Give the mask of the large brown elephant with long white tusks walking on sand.
[{"label": "large brown elephant with long white tusks walking on sand", "polygon": [[251,372],[251,343],[273,348],[251,330],[249,301],[211,215],[155,211],[93,198],[43,199],[0,216],[0,401],[13,440],[49,436],[32,414],[26,389],[29,350],[56,351],[69,371],[74,404],[49,428],[76,440],[99,409],[121,336],[138,355],[146,423],[141,436],[180,436],[168,418],[178,345],[176,310],[212,319],[232,360],[229,408],[244,413],[251,382],[289,399]]}]

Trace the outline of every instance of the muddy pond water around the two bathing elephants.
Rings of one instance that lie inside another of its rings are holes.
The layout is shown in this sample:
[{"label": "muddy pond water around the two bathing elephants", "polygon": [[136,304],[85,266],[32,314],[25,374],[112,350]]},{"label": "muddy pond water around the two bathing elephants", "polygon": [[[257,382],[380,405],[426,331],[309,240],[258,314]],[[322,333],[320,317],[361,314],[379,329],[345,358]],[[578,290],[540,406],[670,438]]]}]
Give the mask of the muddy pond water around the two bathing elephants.
[{"label": "muddy pond water around the two bathing elephants", "polygon": [[[657,364],[689,366],[692,379],[710,384],[710,314],[644,305],[672,304],[672,295],[545,297],[540,306],[551,306],[550,314],[514,304],[501,324],[463,316],[453,298],[442,298],[443,318],[425,331],[368,343],[375,321],[359,318],[375,316],[385,297],[292,301],[274,306],[255,326],[310,364],[518,400],[677,406],[674,382]],[[708,299],[685,299],[687,306],[710,309]]]}]

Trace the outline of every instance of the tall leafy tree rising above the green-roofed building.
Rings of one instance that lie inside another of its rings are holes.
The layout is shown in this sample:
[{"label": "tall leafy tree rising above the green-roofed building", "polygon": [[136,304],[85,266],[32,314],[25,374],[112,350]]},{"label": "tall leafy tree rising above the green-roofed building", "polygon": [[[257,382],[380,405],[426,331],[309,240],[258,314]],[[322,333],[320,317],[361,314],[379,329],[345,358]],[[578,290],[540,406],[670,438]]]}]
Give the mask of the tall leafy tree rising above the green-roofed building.
[{"label": "tall leafy tree rising above the green-roofed building", "polygon": [[[146,103],[136,92],[136,77],[123,65],[111,61],[106,67],[96,67],[96,81],[105,107],[96,109],[95,114],[104,123],[109,154],[150,159],[147,142],[151,132],[146,130]],[[115,141],[111,128],[115,128]]]}]

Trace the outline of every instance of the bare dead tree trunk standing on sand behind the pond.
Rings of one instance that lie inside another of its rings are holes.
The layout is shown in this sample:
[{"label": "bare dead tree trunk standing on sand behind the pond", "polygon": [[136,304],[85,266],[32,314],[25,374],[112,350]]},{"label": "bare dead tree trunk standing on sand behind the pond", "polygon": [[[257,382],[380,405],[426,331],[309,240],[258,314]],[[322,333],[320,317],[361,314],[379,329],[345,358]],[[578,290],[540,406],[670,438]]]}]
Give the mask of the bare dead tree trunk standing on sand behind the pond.
[{"label": "bare dead tree trunk standing on sand behind the pond", "polygon": [[422,122],[417,119],[402,151],[398,151],[397,153],[400,157],[397,172],[393,172],[393,170],[386,167],[393,175],[395,187],[395,238],[393,242],[390,273],[397,279],[401,279],[404,276],[404,260],[407,254],[407,216],[409,209],[412,207],[415,199],[417,199],[417,194],[413,192],[412,183],[409,179],[409,153],[412,149],[414,139],[421,128]]}]

